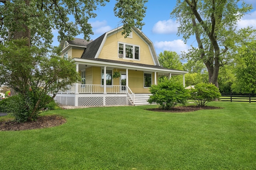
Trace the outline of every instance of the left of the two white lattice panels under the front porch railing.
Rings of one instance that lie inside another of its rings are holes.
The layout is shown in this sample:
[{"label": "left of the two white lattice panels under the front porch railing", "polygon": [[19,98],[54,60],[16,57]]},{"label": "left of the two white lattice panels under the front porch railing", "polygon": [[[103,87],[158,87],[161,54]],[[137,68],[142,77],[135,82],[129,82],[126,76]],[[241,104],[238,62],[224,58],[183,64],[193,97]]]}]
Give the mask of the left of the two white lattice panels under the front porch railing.
[{"label": "left of the two white lattice panels under the front porch railing", "polygon": [[78,106],[103,106],[103,97],[78,97]]}]

